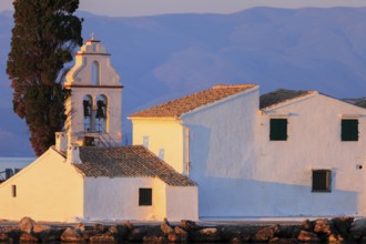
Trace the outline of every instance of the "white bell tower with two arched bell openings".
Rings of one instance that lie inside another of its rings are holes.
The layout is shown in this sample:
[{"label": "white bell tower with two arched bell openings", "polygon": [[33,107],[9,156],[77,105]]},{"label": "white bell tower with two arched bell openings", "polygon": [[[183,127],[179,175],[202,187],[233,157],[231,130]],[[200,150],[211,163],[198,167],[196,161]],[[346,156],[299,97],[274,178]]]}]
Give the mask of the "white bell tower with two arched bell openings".
[{"label": "white bell tower with two arched bell openings", "polygon": [[88,40],[75,54],[64,88],[69,143],[108,146],[122,140],[122,84],[101,41]]}]

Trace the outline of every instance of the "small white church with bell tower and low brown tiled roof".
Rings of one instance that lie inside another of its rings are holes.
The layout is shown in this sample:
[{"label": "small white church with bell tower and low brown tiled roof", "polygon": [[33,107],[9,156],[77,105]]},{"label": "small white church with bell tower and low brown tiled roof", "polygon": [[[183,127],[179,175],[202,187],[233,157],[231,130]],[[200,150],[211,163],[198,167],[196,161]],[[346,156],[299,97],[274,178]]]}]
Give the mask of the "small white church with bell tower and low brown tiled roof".
[{"label": "small white church with bell tower and low brown tiled roof", "polygon": [[[0,184],[0,218],[197,220],[197,186],[143,146],[120,146],[122,84],[96,40],[67,75],[67,131]],[[190,200],[190,204],[186,204]]]}]

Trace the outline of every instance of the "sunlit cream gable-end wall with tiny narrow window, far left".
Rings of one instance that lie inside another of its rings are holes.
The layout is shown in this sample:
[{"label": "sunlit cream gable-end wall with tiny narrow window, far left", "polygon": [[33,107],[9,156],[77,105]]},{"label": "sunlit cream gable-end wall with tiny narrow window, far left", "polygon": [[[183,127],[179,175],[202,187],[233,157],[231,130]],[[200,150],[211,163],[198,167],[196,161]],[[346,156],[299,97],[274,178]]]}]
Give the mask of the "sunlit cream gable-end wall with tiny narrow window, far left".
[{"label": "sunlit cream gable-end wall with tiny narrow window, far left", "polygon": [[[12,196],[12,185],[17,196]],[[53,149],[0,184],[0,218],[72,222],[83,215],[83,179]]]}]

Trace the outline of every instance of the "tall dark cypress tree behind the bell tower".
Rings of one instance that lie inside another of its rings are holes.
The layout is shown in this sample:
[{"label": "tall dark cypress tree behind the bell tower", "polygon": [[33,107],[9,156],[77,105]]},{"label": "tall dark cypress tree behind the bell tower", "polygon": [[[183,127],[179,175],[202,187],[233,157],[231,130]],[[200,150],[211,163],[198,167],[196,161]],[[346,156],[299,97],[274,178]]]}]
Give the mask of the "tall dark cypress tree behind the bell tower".
[{"label": "tall dark cypress tree behind the bell tower", "polygon": [[13,111],[26,120],[37,155],[54,144],[65,120],[64,63],[82,44],[79,0],[14,0],[14,27],[7,73]]}]

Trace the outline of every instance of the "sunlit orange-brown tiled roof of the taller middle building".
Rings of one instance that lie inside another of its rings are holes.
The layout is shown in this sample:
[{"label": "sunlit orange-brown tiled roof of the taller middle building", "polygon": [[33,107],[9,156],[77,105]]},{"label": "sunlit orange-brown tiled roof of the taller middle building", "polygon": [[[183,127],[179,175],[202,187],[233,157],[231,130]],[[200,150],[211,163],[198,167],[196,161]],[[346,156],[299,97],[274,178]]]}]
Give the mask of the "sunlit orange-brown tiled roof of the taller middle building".
[{"label": "sunlit orange-brown tiled roof of the taller middle building", "polygon": [[214,85],[212,89],[140,111],[129,118],[179,118],[200,106],[220,101],[254,87],[256,87],[256,84]]}]

